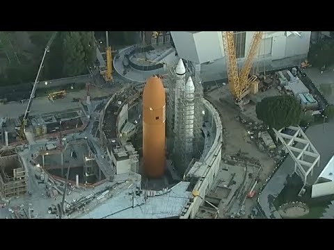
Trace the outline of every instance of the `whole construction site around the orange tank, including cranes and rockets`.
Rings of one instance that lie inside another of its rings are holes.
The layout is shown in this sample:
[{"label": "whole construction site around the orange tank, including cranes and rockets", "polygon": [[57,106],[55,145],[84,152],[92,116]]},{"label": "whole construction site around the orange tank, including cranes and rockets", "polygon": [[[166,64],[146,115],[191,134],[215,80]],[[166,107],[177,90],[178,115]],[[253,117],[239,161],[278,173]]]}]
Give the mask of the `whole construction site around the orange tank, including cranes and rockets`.
[{"label": "whole construction site around the orange tank, including cranes and rockets", "polygon": [[[299,66],[259,66],[263,31],[253,33],[242,67],[237,36],[223,31],[222,38],[227,63],[221,71],[228,77],[219,84],[204,82],[198,63],[175,57],[170,44],[148,44],[147,51],[136,45],[114,58],[107,44],[106,53],[97,53],[97,74],[107,85],[115,88],[117,61],[150,77],[99,98],[89,91],[93,83],[70,101],[70,93],[48,94],[49,105],[63,103],[54,112],[33,113],[37,76],[21,104],[24,115],[0,118],[0,217],[256,217],[260,188],[288,149],[275,137],[284,137],[282,131],[271,133],[257,119],[256,103],[280,94],[293,95],[310,112],[323,103],[303,83]],[[164,74],[152,73],[157,69]]]}]

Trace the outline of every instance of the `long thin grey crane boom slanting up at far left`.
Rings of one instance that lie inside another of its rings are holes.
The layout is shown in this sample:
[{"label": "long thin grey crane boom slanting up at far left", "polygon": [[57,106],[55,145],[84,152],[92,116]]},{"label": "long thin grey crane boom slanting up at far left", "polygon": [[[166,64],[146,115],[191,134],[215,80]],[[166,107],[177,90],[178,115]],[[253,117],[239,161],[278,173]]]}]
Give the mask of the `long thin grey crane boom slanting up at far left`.
[{"label": "long thin grey crane boom slanting up at far left", "polygon": [[26,106],[26,111],[25,111],[24,116],[22,118],[21,126],[19,127],[18,135],[19,135],[19,139],[21,139],[21,140],[24,140],[26,138],[26,135],[25,135],[26,124],[28,122],[29,113],[31,111],[31,103],[33,102],[33,98],[35,97],[35,92],[36,92],[38,79],[40,78],[40,72],[42,70],[42,67],[44,67],[45,56],[49,52],[51,44],[52,44],[52,42],[54,42],[54,38],[56,38],[57,33],[58,33],[58,31],[55,31],[51,35],[51,38],[49,39],[49,42],[47,42],[47,47],[45,47],[45,51],[44,51],[44,54],[43,54],[43,57],[42,57],[42,61],[40,62],[40,67],[38,69],[37,76],[35,78],[35,82],[33,83],[33,89],[31,90],[30,98],[29,98],[28,104]]}]

